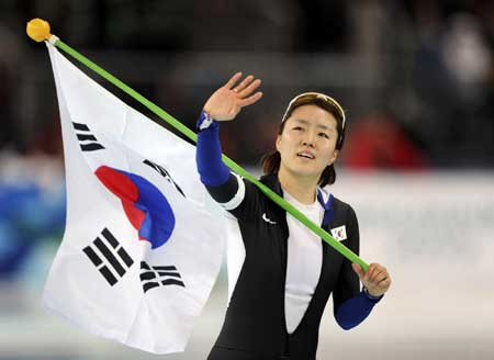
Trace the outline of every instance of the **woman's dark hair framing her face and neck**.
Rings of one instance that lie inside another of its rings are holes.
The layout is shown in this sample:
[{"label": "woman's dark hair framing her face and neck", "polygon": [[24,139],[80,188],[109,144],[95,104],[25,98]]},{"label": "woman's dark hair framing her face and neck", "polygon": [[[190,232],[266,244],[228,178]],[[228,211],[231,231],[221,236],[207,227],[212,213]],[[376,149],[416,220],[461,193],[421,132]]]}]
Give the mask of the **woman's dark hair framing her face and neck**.
[{"label": "woman's dark hair framing her face and neck", "polygon": [[[338,140],[336,143],[336,149],[340,150],[343,148],[345,140],[344,115],[341,114],[340,109],[338,109],[333,102],[325,101],[321,98],[301,99],[300,101],[295,101],[294,103],[290,104],[289,109],[287,110],[287,113],[283,116],[283,121],[280,123],[280,126],[278,127],[278,135],[281,135],[283,133],[287,119],[289,119],[292,115],[293,111],[299,106],[307,104],[313,104],[323,110],[326,110],[336,119],[336,130],[338,132]],[[265,154],[261,158],[261,164],[265,173],[278,173],[281,164],[280,153],[277,149],[274,149]],[[336,171],[334,164],[332,164],[323,170],[323,173],[321,175],[317,184],[319,187],[325,187],[327,184],[335,183],[335,181],[336,181]]]}]

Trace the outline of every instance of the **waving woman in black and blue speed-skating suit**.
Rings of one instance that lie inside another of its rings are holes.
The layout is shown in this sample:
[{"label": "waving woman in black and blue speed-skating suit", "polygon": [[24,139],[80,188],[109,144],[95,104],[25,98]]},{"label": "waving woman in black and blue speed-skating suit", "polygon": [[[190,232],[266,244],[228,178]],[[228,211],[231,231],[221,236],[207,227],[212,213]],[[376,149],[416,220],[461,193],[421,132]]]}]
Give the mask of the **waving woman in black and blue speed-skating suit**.
[{"label": "waving woman in black and blue speed-skating suit", "polygon": [[[201,181],[238,220],[244,246],[225,322],[207,359],[315,359],[329,295],[337,323],[350,329],[370,314],[391,278],[379,263],[367,272],[350,263],[222,162],[220,122],[235,119],[262,97],[256,92],[259,79],[240,78],[237,72],[216,90],[198,121]],[[263,158],[266,175],[260,180],[359,254],[353,210],[323,189],[335,182],[333,164],[344,134],[345,113],[334,99],[319,93],[294,98],[281,121],[277,150]]]}]

